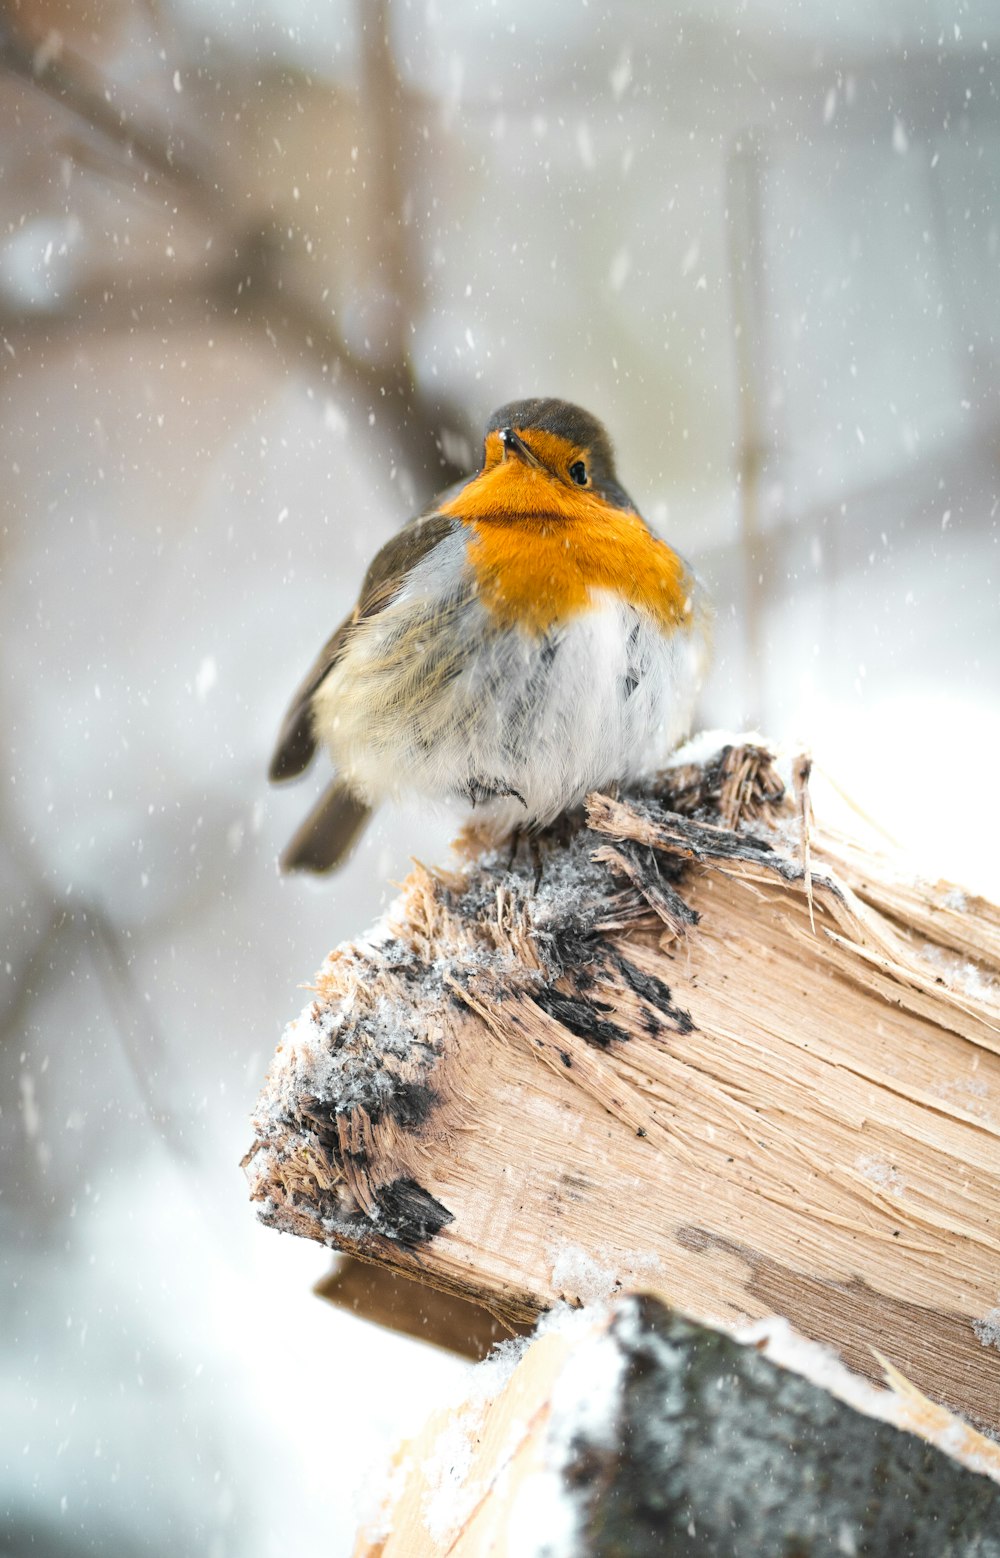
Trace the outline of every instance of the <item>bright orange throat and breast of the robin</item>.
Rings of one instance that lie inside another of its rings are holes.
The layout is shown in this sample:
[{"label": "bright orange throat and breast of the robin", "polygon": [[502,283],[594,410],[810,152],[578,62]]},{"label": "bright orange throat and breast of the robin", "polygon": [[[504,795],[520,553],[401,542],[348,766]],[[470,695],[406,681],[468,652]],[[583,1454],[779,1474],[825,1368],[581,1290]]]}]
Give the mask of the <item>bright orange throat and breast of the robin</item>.
[{"label": "bright orange throat and breast of the robin", "polygon": [[511,460],[470,481],[444,513],[472,531],[480,598],[503,626],[547,633],[604,589],[667,629],[692,615],[693,584],[678,553],[597,492]]}]

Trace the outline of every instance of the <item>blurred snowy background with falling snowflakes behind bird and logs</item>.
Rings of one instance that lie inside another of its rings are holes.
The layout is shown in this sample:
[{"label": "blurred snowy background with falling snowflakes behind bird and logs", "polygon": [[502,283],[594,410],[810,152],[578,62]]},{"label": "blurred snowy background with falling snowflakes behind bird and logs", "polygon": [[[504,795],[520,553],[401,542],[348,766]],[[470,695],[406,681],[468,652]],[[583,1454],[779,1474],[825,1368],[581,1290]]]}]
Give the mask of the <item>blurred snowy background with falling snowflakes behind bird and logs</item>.
[{"label": "blurred snowy background with falling snowflakes behind bird and logs", "polygon": [[[1000,890],[991,0],[0,6],[0,1550],[350,1549],[461,1373],[238,1168],[450,824],[280,882],[287,698],[494,405],[606,419],[702,721]],[[1000,1295],[998,1295],[1000,1302]]]}]

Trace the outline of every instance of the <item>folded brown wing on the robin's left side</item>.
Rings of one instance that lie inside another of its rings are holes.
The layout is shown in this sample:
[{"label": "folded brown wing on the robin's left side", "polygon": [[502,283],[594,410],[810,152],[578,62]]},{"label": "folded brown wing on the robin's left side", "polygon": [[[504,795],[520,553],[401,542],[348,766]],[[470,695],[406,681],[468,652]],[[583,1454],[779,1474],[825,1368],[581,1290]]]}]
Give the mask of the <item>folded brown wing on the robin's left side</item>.
[{"label": "folded brown wing on the robin's left side", "polygon": [[341,657],[355,623],[383,611],[399,594],[410,569],[428,552],[433,552],[445,536],[450,536],[455,527],[456,520],[445,519],[436,508],[428,514],[417,514],[391,541],[386,541],[382,552],[372,559],[357,606],[341,622],[336,633],[327,639],[288,706],[271,759],[269,777],[273,782],[294,779],[313,760],[316,751],[313,696]]}]

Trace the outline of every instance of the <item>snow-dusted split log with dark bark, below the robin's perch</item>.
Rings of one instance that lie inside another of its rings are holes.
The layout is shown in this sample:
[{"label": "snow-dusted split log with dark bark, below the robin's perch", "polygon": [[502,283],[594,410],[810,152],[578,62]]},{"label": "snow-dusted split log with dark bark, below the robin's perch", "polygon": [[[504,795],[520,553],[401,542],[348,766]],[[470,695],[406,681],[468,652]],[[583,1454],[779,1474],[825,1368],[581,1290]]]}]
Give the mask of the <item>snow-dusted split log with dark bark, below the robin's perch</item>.
[{"label": "snow-dusted split log with dark bark, below the robin's perch", "polygon": [[1000,1558],[997,1444],[759,1329],[629,1298],[506,1379],[475,1369],[397,1454],[355,1558]]}]

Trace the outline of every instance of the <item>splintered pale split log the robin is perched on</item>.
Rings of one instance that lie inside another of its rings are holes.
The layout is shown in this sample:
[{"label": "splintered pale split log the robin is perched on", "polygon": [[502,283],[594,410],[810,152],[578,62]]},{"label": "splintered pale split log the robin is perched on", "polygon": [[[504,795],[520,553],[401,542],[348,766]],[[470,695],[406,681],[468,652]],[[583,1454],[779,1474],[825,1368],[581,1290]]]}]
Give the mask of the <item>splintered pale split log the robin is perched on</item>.
[{"label": "splintered pale split log the robin is perched on", "polygon": [[285,1033],[260,1215],[512,1323],[782,1315],[1000,1430],[1000,911],[807,813],[732,745],[592,796],[537,885],[417,866]]}]

